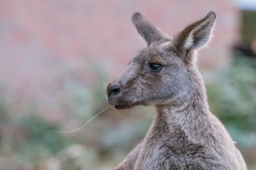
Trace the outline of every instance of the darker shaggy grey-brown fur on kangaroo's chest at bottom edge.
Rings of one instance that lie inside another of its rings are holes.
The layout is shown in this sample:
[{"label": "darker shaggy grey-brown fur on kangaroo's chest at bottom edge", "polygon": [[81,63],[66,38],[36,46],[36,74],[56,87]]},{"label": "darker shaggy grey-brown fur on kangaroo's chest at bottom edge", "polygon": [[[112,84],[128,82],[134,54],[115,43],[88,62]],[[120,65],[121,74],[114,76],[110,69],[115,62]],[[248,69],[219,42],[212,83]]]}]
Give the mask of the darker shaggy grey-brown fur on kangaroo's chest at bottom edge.
[{"label": "darker shaggy grey-brown fur on kangaroo's chest at bottom edge", "polygon": [[136,163],[137,169],[204,169],[216,159],[204,146],[192,143],[177,128],[172,133],[160,134],[156,130],[148,134]]}]

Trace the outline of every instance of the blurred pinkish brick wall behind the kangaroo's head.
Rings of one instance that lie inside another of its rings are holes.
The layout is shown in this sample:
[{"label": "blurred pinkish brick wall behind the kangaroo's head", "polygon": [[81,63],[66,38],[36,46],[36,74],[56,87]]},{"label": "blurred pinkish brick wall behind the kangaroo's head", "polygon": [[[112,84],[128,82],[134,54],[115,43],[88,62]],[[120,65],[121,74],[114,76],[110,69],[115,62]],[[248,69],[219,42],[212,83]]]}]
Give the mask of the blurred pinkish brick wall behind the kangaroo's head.
[{"label": "blurred pinkish brick wall behind the kangaroo's head", "polygon": [[[56,68],[65,63],[87,68],[81,65],[84,57],[100,62],[114,78],[145,47],[131,22],[135,11],[174,35],[210,10],[217,14],[217,25],[213,41],[199,53],[199,65],[205,68],[225,66],[239,40],[240,14],[232,0],[0,1],[2,95],[17,101],[48,93],[45,100],[54,97]],[[85,85],[90,83],[87,73],[85,69]]]}]

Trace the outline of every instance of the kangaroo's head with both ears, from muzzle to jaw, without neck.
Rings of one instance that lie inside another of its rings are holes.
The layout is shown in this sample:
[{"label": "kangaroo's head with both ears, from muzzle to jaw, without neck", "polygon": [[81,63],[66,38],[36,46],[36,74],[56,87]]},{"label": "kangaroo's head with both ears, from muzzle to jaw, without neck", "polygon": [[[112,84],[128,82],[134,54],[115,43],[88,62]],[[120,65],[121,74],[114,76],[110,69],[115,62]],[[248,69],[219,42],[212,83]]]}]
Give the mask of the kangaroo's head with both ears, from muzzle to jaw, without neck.
[{"label": "kangaroo's head with both ears, from muzzle to jaw, without neck", "polygon": [[107,85],[107,101],[116,109],[136,105],[171,104],[195,95],[202,80],[196,51],[209,40],[216,14],[210,11],[174,37],[147,21],[139,12],[132,22],[148,47],[137,51],[129,66]]}]

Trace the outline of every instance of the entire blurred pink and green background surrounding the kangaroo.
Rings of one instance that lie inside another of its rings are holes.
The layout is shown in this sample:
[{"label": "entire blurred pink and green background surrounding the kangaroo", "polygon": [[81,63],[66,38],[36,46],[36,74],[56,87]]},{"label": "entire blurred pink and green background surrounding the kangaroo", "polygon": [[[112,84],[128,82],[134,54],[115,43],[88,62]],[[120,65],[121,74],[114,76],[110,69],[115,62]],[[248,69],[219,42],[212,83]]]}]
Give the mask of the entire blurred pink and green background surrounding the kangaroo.
[{"label": "entire blurred pink and green background surrounding the kangaroo", "polygon": [[0,169],[113,169],[145,136],[154,107],[108,108],[104,83],[146,45],[140,11],[174,35],[217,14],[200,51],[211,110],[256,169],[256,1],[0,0]]}]

